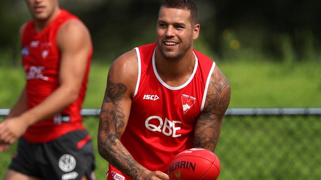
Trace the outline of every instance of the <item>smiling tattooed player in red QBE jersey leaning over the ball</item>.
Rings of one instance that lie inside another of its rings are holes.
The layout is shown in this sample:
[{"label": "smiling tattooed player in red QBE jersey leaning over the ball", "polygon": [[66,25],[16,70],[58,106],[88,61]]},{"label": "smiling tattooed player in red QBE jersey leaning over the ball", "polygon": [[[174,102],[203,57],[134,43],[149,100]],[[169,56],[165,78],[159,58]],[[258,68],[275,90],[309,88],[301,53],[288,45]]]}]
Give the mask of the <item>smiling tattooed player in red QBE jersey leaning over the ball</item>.
[{"label": "smiling tattooed player in red QBE jersey leaning over the ball", "polygon": [[98,150],[109,162],[107,180],[168,180],[179,152],[215,150],[230,102],[230,85],[193,49],[198,10],[192,0],[165,0],[157,42],[112,64],[100,112]]}]

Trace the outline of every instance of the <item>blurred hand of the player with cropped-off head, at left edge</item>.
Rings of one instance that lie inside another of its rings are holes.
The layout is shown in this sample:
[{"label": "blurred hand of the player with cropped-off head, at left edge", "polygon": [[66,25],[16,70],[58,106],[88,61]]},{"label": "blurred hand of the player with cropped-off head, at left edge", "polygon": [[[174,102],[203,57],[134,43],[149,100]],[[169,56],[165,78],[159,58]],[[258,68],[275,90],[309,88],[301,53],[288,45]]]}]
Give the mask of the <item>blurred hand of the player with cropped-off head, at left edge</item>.
[{"label": "blurred hand of the player with cropped-off head, at left edge", "polygon": [[7,150],[8,145],[20,138],[28,126],[27,121],[19,117],[3,120],[0,123],[0,151]]}]

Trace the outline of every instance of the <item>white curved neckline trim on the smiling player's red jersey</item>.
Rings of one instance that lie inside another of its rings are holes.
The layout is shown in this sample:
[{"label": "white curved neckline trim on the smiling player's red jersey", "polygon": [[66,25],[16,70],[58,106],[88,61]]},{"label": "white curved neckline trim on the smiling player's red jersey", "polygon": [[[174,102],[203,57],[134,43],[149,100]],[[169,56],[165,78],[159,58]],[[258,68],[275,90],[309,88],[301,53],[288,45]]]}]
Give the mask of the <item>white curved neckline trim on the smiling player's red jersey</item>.
[{"label": "white curved neckline trim on the smiling player's red jersey", "polygon": [[186,87],[192,80],[193,80],[193,77],[196,73],[196,70],[197,70],[197,67],[198,67],[198,64],[199,64],[199,60],[197,59],[196,57],[196,54],[194,53],[193,51],[193,54],[195,56],[195,65],[194,65],[194,70],[193,70],[193,73],[191,75],[191,77],[184,83],[182,84],[181,86],[179,87],[171,87],[169,85],[167,85],[165,82],[163,82],[163,80],[161,79],[160,75],[158,74],[157,70],[156,70],[156,65],[155,65],[155,52],[156,52],[156,48],[157,46],[155,47],[155,50],[154,50],[154,53],[153,53],[153,58],[152,58],[152,62],[153,62],[153,69],[154,69],[154,74],[155,76],[157,77],[157,79],[160,81],[160,83],[167,89],[169,90],[180,90],[184,87]]}]

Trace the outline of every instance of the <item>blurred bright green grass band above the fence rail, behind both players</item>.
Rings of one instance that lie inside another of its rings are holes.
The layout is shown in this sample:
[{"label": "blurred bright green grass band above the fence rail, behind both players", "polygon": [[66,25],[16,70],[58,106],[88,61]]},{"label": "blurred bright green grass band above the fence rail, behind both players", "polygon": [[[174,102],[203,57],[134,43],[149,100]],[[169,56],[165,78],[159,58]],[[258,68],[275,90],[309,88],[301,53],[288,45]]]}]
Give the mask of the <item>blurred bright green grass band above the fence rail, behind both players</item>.
[{"label": "blurred bright green grass band above the fence rail, behind both players", "polygon": [[[270,61],[216,60],[231,88],[230,108],[321,107],[321,64],[293,67]],[[100,108],[109,64],[93,63],[84,108]],[[9,108],[25,85],[22,68],[0,67],[0,108]]]}]

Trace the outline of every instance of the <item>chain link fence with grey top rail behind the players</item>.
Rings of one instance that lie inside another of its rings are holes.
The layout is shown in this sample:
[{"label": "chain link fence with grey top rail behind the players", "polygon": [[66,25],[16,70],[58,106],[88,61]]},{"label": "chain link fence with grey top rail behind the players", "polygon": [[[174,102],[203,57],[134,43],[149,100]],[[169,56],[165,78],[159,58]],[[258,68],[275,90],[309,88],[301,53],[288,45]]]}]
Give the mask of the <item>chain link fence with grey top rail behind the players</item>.
[{"label": "chain link fence with grey top rail behind the players", "polygon": [[[95,146],[96,179],[104,180],[108,163],[97,151],[99,110],[82,114]],[[0,152],[0,179],[15,149]],[[219,180],[321,180],[320,151],[321,109],[229,109],[215,150]]]}]

